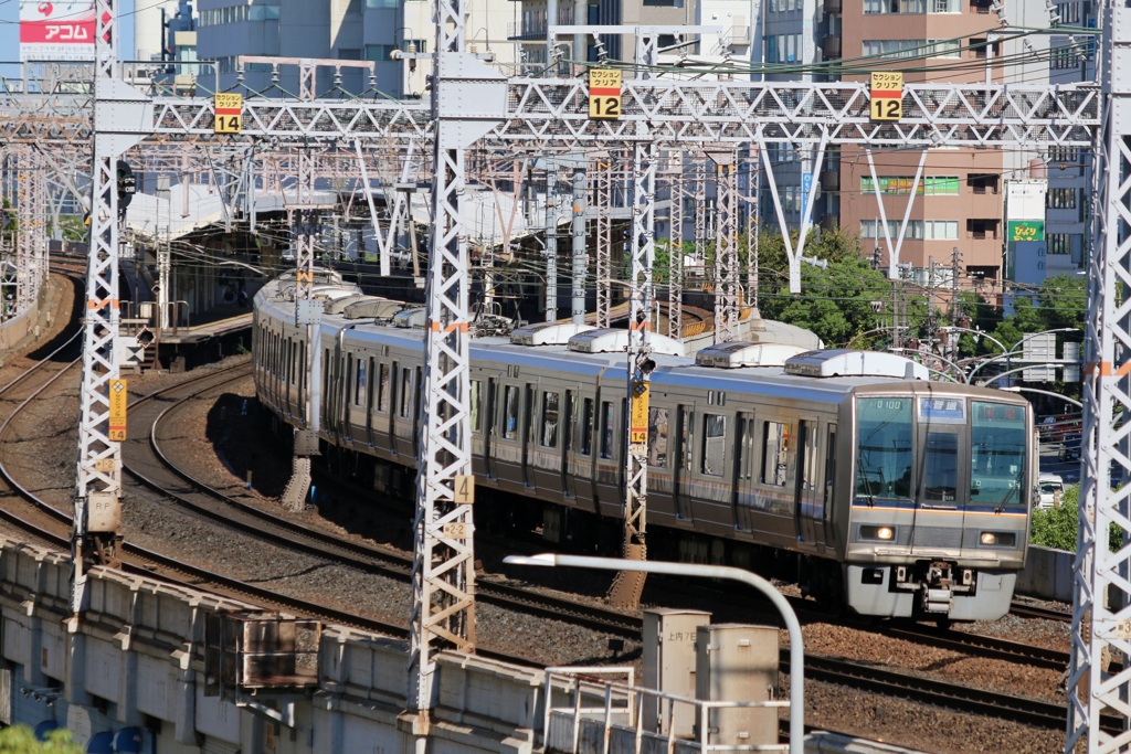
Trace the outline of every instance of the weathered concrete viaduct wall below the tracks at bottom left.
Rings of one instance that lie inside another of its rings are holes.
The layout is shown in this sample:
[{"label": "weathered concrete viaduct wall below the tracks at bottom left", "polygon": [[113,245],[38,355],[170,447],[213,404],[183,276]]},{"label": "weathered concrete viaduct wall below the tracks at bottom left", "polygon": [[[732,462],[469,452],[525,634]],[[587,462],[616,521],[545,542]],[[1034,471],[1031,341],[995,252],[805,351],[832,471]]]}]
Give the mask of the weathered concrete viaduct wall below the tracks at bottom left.
[{"label": "weathered concrete viaduct wall below the tracks at bottom left", "polygon": [[[204,624],[209,610],[248,606],[94,569],[76,621],[69,579],[68,556],[0,538],[0,723],[67,727],[83,746],[128,738],[162,754],[395,754],[421,737],[444,754],[545,751],[541,670],[442,652],[437,703],[421,719],[407,711],[406,642],[328,627],[317,688],[236,704],[207,693]],[[603,748],[603,730],[593,734],[584,754]],[[806,751],[881,749],[826,735]]]}]

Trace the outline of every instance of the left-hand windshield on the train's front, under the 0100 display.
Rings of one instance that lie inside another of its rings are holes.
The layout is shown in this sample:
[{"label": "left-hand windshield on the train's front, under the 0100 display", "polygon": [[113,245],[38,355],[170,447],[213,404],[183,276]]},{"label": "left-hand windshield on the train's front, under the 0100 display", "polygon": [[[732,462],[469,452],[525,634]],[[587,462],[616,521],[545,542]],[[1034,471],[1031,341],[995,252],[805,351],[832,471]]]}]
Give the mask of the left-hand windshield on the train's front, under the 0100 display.
[{"label": "left-hand windshield on the train's front, under the 0100 display", "polygon": [[913,402],[910,397],[857,401],[857,495],[910,499]]}]

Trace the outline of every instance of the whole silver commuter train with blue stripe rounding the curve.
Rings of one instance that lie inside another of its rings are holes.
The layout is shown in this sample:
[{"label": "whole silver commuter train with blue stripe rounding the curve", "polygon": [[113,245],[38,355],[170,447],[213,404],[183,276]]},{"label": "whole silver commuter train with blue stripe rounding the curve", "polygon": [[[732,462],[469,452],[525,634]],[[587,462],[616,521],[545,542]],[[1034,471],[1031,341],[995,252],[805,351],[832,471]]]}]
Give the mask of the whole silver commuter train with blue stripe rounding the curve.
[{"label": "whole silver commuter train with blue stripe rounding the curve", "polygon": [[[411,491],[423,313],[394,317],[391,302],[335,274],[316,283],[310,385],[293,277],[256,296],[259,400],[302,426],[312,389],[309,428],[335,468]],[[649,557],[770,566],[869,616],[944,623],[1009,610],[1036,478],[1022,398],[932,382],[890,354],[725,344],[692,358],[677,341],[651,343]],[[475,337],[470,355],[476,525],[619,555],[624,332],[519,328]],[[766,362],[777,365],[753,365]]]}]

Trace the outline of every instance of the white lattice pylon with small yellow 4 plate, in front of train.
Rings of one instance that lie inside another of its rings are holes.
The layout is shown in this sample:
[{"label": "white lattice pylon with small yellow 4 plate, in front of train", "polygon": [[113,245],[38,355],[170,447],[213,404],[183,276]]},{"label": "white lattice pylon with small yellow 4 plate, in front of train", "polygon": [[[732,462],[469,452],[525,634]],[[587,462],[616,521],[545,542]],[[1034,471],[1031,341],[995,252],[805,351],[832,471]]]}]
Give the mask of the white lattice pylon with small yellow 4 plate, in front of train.
[{"label": "white lattice pylon with small yellow 4 plate, in front of train", "polygon": [[[429,730],[426,711],[435,702],[433,651],[441,642],[475,651],[469,265],[459,193],[465,148],[498,123],[492,116],[502,110],[507,92],[501,76],[464,52],[464,32],[460,0],[437,0],[435,175],[408,674],[408,703],[421,713],[415,733],[422,736]],[[482,106],[468,107],[473,98]]]}]

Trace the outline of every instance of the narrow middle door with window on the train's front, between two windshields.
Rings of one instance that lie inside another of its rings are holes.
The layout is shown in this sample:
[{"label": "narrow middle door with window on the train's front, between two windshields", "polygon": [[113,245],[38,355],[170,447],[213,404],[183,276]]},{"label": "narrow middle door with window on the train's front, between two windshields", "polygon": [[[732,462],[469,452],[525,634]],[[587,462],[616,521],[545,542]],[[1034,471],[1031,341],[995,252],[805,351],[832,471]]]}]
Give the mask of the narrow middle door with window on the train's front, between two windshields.
[{"label": "narrow middle door with window on the train's front, between two windshields", "polygon": [[[932,517],[929,526],[921,526],[920,515],[926,511],[957,511],[959,491],[969,489],[969,465],[960,460],[970,457],[965,422],[941,424],[935,421],[920,423],[920,480],[915,495],[915,534],[912,554],[924,548],[938,552],[940,547],[959,547],[962,541],[965,515]],[[964,495],[965,497],[965,495]]]}]

